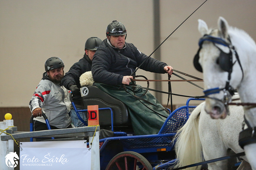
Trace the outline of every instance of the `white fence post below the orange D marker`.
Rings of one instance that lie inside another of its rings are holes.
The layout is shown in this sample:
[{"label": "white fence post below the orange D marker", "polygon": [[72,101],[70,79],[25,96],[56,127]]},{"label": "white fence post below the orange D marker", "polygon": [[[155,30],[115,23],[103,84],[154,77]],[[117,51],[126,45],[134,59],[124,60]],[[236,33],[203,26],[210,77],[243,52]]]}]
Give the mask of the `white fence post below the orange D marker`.
[{"label": "white fence post below the orange D marker", "polygon": [[92,142],[92,148],[91,148],[91,170],[100,170],[100,147],[99,147],[99,131],[95,132],[95,136],[92,141],[92,136],[89,137],[89,146],[91,147]]}]

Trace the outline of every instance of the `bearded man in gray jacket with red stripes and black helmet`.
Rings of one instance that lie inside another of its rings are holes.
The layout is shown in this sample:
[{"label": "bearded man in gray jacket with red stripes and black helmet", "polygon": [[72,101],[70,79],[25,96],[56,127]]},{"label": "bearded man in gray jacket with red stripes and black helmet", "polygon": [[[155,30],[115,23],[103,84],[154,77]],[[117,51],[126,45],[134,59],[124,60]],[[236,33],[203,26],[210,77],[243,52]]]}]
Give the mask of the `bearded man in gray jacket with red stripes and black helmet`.
[{"label": "bearded man in gray jacket with red stripes and black helmet", "polygon": [[[64,76],[64,63],[58,57],[45,61],[45,73],[30,100],[29,107],[34,116],[35,131],[48,130],[42,117],[45,112],[52,129],[71,128],[69,92],[61,79]],[[38,141],[38,140],[37,140]]]}]

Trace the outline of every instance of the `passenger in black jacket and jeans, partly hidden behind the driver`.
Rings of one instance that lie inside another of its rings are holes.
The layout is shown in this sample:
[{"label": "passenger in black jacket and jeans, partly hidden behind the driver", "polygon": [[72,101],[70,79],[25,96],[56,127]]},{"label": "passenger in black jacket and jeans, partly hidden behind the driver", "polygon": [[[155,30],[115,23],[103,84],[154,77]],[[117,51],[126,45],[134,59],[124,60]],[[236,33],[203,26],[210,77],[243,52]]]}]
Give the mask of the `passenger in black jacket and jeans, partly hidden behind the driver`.
[{"label": "passenger in black jacket and jeans, partly hidden behind the driver", "polygon": [[[72,99],[76,105],[76,108],[78,110],[82,109],[82,100],[81,100],[81,93],[80,93],[80,76],[87,72],[92,70],[92,57],[98,48],[98,46],[101,44],[101,39],[98,37],[90,37],[86,40],[85,43],[85,54],[83,58],[81,58],[78,62],[73,64],[72,67],[70,67],[69,71],[65,74],[63,77],[61,83],[64,85],[65,88],[68,90],[71,90],[73,96]],[[81,118],[86,122],[86,116],[85,113],[79,112]],[[76,115],[76,112],[74,109],[71,109],[71,119],[73,122],[73,125],[75,127],[82,127],[85,126]]]}]

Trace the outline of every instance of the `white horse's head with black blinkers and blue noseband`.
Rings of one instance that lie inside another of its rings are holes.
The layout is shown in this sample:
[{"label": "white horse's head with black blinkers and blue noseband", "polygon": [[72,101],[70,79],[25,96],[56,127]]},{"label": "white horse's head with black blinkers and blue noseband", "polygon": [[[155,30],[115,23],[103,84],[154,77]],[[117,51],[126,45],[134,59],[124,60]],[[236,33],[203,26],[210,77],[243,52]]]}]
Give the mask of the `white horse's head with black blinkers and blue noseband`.
[{"label": "white horse's head with black blinkers and blue noseband", "polygon": [[243,79],[237,49],[233,46],[234,34],[230,34],[233,29],[223,17],[218,19],[217,29],[208,29],[207,24],[198,19],[198,31],[203,37],[199,40],[194,66],[203,72],[205,111],[211,118],[226,118],[227,104]]}]

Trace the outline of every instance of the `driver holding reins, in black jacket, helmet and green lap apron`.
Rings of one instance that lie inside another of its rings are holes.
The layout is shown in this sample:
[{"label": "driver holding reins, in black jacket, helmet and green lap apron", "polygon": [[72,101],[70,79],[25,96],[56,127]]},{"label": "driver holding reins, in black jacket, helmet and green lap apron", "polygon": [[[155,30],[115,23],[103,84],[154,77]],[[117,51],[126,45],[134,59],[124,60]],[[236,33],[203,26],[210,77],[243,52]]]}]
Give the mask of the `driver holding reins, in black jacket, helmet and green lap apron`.
[{"label": "driver holding reins, in black jacket, helmet and green lap apron", "polygon": [[[126,35],[126,28],[121,22],[113,21],[107,26],[107,38],[98,47],[92,60],[92,76],[98,88],[126,104],[136,135],[157,134],[169,115],[164,107],[149,92],[142,98],[156,106],[139,101],[118,88],[122,84],[129,85],[133,78],[130,75],[144,60],[147,61],[140,68],[146,71],[171,75],[172,67],[148,58],[132,43],[126,43]],[[133,94],[131,87],[126,86],[126,89]],[[135,88],[135,92],[141,96],[144,90]]]}]

